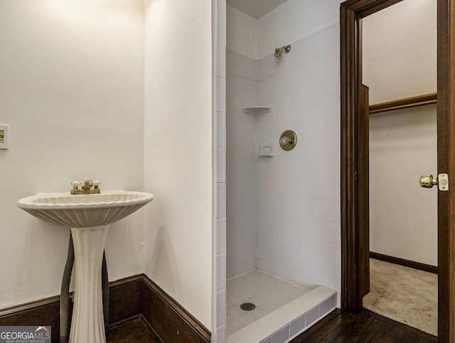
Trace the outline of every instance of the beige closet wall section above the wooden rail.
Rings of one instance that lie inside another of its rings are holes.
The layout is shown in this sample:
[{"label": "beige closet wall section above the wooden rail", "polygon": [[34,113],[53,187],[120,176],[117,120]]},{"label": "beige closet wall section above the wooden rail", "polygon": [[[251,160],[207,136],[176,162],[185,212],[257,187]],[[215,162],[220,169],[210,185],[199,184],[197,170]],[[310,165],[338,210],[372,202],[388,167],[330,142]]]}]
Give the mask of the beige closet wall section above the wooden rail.
[{"label": "beige closet wall section above the wooden rail", "polygon": [[437,91],[437,3],[405,0],[363,19],[370,105]]}]

